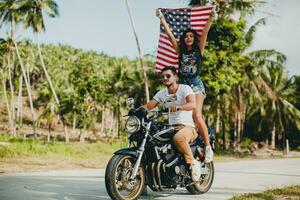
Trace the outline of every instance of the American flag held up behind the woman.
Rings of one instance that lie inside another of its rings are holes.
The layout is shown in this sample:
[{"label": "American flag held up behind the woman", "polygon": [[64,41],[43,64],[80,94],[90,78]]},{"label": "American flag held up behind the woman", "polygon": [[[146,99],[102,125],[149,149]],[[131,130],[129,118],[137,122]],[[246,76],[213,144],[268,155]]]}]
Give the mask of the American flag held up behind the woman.
[{"label": "American flag held up behind the woman", "polygon": [[[169,24],[176,40],[179,41],[182,32],[187,28],[194,29],[199,35],[201,35],[213,7],[214,6],[176,9],[162,8],[160,10]],[[159,72],[165,66],[169,65],[173,65],[178,68],[178,56],[176,51],[173,49],[168,35],[165,33],[161,25],[155,71]]]}]

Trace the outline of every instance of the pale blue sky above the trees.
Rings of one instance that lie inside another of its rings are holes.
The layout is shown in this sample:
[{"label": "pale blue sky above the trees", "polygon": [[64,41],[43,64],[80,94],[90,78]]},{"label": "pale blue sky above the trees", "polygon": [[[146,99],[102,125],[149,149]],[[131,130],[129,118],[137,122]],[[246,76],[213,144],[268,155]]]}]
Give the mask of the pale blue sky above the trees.
[{"label": "pale blue sky above the trees", "polygon": [[[73,47],[103,52],[110,56],[138,57],[125,0],[57,0],[59,17],[45,18],[42,43],[69,44]],[[155,53],[159,36],[156,8],[186,7],[186,0],[129,0],[143,54]],[[300,0],[268,0],[249,18],[254,23],[267,17],[250,50],[275,49],[287,56],[289,75],[300,75]],[[5,37],[2,27],[0,37]],[[34,37],[31,30],[19,28],[18,40]]]}]

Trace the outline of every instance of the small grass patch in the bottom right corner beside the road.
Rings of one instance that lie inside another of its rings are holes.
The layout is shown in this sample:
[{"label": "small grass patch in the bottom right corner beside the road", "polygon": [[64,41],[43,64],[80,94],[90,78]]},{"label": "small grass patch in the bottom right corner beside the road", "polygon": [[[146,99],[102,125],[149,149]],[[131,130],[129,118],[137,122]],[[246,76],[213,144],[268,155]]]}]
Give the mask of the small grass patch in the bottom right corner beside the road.
[{"label": "small grass patch in the bottom right corner beside the road", "polygon": [[300,200],[300,185],[288,186],[280,189],[270,189],[261,193],[249,193],[236,196],[230,200]]}]

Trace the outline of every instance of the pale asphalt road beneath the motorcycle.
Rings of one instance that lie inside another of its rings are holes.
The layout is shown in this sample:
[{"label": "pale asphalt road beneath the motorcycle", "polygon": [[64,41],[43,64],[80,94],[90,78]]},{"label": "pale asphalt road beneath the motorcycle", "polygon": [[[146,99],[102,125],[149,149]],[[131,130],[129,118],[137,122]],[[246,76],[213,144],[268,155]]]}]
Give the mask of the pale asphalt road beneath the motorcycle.
[{"label": "pale asphalt road beneath the motorcycle", "polygon": [[[210,191],[190,195],[185,189],[155,193],[141,199],[229,199],[284,185],[300,184],[300,159],[251,160],[215,163]],[[104,185],[104,169],[0,175],[0,200],[99,200],[110,199]]]}]

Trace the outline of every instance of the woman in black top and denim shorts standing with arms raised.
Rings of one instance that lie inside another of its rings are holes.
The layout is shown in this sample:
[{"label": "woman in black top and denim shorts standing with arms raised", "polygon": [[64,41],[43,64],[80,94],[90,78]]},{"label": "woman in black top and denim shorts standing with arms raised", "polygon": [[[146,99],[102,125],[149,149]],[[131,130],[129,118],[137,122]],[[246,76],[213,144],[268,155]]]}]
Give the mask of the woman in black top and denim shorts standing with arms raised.
[{"label": "woman in black top and denim shorts standing with arms raised", "polygon": [[211,162],[213,160],[213,151],[209,144],[207,126],[202,118],[202,108],[206,93],[204,85],[199,77],[199,72],[207,34],[211,26],[212,16],[214,13],[215,11],[213,10],[200,38],[195,30],[187,29],[183,32],[179,42],[177,42],[163,14],[159,9],[156,10],[156,15],[160,18],[161,24],[163,25],[169,40],[179,57],[179,81],[181,84],[191,86],[196,96],[196,108],[193,110],[193,117],[206,145],[206,162]]}]

